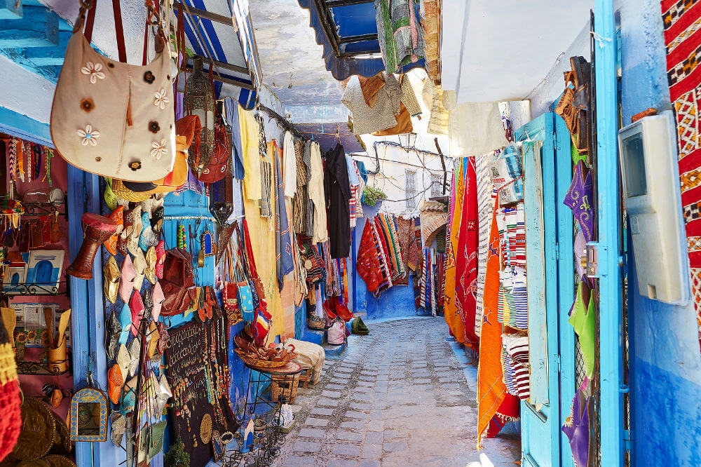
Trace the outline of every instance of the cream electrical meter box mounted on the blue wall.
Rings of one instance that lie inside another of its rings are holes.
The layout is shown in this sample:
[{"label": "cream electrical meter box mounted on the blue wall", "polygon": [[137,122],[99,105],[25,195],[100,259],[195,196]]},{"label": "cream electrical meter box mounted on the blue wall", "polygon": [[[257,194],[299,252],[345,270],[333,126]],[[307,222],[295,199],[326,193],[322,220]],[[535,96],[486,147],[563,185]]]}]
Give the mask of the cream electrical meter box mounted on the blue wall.
[{"label": "cream electrical meter box mounted on the blue wall", "polygon": [[618,149],[639,293],[665,303],[687,302],[686,234],[672,111],[619,130]]}]

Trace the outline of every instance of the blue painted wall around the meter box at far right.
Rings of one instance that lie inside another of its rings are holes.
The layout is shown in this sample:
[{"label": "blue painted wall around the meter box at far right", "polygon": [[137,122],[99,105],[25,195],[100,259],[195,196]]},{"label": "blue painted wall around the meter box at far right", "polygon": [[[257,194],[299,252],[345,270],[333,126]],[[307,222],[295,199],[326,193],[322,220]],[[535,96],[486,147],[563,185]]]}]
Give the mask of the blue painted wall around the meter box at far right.
[{"label": "blue painted wall around the meter box at far right", "polygon": [[[658,0],[618,0],[615,7],[627,124],[648,107],[671,109],[665,44]],[[693,305],[641,297],[632,248],[627,262],[633,465],[701,465],[701,353]]]}]

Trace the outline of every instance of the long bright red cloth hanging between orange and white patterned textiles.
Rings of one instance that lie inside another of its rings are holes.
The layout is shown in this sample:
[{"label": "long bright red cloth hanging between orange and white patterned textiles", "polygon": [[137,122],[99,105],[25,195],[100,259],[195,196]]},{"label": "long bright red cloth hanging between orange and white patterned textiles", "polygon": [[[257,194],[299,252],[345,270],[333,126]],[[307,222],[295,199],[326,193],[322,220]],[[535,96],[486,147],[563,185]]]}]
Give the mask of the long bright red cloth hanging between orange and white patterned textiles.
[{"label": "long bright red cloth hanging between orange and white patterned textiles", "polygon": [[456,306],[465,326],[465,345],[477,350],[475,292],[477,290],[477,173],[475,158],[465,158],[465,193],[456,255]]}]

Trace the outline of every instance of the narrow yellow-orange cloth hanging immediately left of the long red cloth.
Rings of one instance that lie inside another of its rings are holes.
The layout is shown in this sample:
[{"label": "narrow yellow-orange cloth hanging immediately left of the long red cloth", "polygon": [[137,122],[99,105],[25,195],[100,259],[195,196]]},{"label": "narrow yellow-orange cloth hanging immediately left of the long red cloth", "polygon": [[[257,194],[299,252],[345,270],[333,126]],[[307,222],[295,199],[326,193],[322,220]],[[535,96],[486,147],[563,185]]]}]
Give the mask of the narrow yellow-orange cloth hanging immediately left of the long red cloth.
[{"label": "narrow yellow-orange cloth hanging immediately left of the long red cloth", "polygon": [[443,309],[445,322],[448,323],[451,334],[453,334],[456,341],[465,344],[465,325],[455,305],[455,252],[458,250],[458,234],[460,232],[460,220],[463,212],[463,194],[465,192],[463,159],[458,159],[458,161],[460,161],[460,168],[458,168],[458,175],[455,177],[455,211],[450,228],[450,248],[448,250],[448,264],[445,270]]}]

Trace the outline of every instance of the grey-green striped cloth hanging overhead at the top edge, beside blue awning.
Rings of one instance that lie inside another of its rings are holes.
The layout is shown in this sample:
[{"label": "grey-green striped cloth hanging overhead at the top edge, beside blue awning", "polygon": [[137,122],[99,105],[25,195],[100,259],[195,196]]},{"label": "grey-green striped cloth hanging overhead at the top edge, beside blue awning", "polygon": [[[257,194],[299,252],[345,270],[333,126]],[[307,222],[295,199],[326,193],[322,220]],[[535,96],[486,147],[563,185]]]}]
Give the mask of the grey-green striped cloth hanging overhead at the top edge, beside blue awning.
[{"label": "grey-green striped cloth hanging overhead at the top edge, beside blue awning", "polygon": [[423,58],[423,34],[414,0],[375,0],[377,39],[385,69],[400,73],[403,65]]}]

